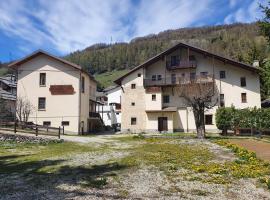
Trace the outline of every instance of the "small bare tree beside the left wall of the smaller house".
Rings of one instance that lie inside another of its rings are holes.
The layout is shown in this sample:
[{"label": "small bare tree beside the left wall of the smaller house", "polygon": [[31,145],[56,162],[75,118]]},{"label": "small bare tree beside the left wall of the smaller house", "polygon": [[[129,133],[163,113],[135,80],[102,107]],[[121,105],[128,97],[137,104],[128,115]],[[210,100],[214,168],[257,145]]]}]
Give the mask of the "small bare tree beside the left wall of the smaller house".
[{"label": "small bare tree beside the left wall of the smaller house", "polygon": [[33,112],[33,109],[34,107],[28,99],[23,97],[17,98],[16,115],[19,122],[26,123],[29,115]]}]

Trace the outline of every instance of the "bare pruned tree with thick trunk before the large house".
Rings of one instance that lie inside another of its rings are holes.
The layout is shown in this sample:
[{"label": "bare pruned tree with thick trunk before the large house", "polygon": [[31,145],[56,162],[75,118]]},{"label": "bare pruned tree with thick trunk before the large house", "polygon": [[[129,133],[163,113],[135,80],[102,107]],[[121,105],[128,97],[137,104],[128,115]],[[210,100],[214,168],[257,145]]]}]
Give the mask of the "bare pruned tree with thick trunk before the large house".
[{"label": "bare pruned tree with thick trunk before the large house", "polygon": [[185,104],[192,108],[198,138],[205,137],[204,114],[208,109],[218,103],[218,90],[214,77],[210,75],[198,75],[192,80],[180,80],[178,85],[180,97]]}]

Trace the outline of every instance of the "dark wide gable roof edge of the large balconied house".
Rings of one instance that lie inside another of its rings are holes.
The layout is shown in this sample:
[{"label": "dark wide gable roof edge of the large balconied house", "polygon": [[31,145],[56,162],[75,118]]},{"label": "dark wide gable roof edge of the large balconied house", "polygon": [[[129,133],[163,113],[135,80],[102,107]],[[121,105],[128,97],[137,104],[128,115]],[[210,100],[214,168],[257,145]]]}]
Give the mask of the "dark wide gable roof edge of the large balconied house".
[{"label": "dark wide gable roof edge of the large balconied house", "polygon": [[248,65],[248,64],[245,64],[245,63],[242,63],[242,62],[238,62],[236,60],[233,60],[233,59],[230,59],[230,58],[226,58],[224,56],[221,56],[221,55],[218,55],[218,54],[214,54],[214,53],[211,53],[209,51],[206,51],[204,49],[201,49],[201,48],[198,48],[198,47],[194,47],[192,45],[189,45],[189,44],[186,44],[186,43],[183,43],[183,42],[180,42],[176,45],[174,45],[173,47],[157,54],[156,56],[150,58],[149,60],[147,60],[146,62],[140,64],[139,66],[133,68],[132,70],[130,70],[129,72],[127,72],[126,74],[124,74],[123,76],[121,76],[120,78],[116,79],[114,82],[118,85],[121,85],[121,81],[123,80],[123,78],[127,77],[129,74],[133,73],[134,71],[140,69],[140,68],[143,68],[143,67],[146,67],[146,66],[149,66],[153,63],[155,63],[156,61],[158,61],[159,59],[162,59],[164,56],[166,56],[167,54],[170,54],[172,53],[173,51],[175,51],[176,49],[178,49],[179,47],[185,47],[185,48],[189,48],[190,50],[192,51],[195,51],[195,52],[198,52],[198,53],[201,53],[201,54],[204,54],[206,56],[209,56],[209,57],[213,57],[215,59],[218,59],[220,61],[223,61],[225,63],[229,63],[229,64],[232,64],[232,65],[236,65],[238,67],[241,67],[241,68],[244,68],[244,69],[247,69],[247,70],[250,70],[250,71],[253,71],[253,72],[258,72],[259,71],[259,68],[257,67],[254,67],[252,65]]}]

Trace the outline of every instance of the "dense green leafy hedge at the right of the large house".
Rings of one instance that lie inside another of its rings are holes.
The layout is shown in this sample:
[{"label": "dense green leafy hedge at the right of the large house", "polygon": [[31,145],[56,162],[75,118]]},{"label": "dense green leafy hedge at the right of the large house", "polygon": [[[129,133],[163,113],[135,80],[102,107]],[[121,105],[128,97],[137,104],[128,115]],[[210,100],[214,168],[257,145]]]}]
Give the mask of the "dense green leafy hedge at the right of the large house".
[{"label": "dense green leafy hedge at the right of the large house", "polygon": [[225,133],[241,128],[270,129],[270,109],[221,107],[216,112],[216,125]]}]

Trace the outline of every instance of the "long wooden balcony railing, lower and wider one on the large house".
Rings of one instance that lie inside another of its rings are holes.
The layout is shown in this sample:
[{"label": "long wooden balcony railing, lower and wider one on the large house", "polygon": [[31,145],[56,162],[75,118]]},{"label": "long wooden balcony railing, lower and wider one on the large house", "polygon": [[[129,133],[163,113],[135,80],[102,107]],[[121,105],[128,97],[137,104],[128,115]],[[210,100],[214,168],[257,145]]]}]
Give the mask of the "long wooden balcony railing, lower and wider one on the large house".
[{"label": "long wooden balcony railing, lower and wider one on the large house", "polygon": [[192,83],[211,83],[214,81],[213,75],[196,75],[191,77],[164,77],[159,80],[144,79],[144,86],[166,86],[182,85]]}]

